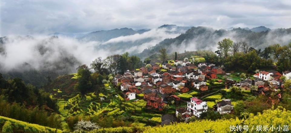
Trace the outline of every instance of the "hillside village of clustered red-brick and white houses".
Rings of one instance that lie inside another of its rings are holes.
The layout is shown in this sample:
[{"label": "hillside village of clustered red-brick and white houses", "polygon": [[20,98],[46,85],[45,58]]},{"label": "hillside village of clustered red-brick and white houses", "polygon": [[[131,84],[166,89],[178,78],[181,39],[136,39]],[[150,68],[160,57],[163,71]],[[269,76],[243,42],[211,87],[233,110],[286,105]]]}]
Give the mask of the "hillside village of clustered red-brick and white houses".
[{"label": "hillside village of clustered red-brick and white houses", "polygon": [[[282,76],[286,80],[290,79],[291,72],[284,71],[281,74],[274,70],[258,71],[251,77],[246,77],[243,73],[237,73],[235,77],[215,64],[194,64],[185,58],[183,61],[169,60],[163,64],[153,62],[135,71],[127,70],[123,75],[117,74],[112,82],[120,87],[125,100],[134,102],[144,99],[149,110],[162,111],[169,104],[185,105],[176,108],[175,115],[161,116],[161,125],[168,125],[187,121],[191,116],[199,118],[208,110],[219,114],[231,113],[235,101],[222,99],[220,91],[229,92],[231,87],[238,87],[244,93],[268,97],[270,93],[283,88]],[[279,102],[282,97],[278,91],[275,99],[268,98],[273,103]]]}]

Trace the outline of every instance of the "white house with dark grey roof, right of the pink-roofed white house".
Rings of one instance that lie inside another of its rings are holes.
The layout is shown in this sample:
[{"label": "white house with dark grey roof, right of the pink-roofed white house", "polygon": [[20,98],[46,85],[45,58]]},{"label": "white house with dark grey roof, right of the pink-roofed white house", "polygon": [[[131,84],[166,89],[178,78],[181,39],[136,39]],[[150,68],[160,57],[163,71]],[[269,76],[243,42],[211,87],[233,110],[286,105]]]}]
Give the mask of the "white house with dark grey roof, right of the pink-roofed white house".
[{"label": "white house with dark grey roof, right of the pink-roofed white house", "polygon": [[217,102],[217,112],[220,114],[230,113],[233,110],[233,105],[229,99],[223,99]]}]

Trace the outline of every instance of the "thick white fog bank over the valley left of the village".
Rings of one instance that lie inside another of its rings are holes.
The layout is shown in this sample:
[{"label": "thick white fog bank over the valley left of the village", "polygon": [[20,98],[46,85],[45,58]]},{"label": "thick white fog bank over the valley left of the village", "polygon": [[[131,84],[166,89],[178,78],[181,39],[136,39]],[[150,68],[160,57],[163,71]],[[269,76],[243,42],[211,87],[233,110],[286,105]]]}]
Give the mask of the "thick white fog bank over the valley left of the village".
[{"label": "thick white fog bank over the valley left of the village", "polygon": [[2,45],[5,52],[0,54],[0,68],[1,71],[34,68],[74,72],[78,65],[90,65],[99,56],[105,58],[111,54],[109,50],[94,49],[96,44],[65,37],[8,36]]}]

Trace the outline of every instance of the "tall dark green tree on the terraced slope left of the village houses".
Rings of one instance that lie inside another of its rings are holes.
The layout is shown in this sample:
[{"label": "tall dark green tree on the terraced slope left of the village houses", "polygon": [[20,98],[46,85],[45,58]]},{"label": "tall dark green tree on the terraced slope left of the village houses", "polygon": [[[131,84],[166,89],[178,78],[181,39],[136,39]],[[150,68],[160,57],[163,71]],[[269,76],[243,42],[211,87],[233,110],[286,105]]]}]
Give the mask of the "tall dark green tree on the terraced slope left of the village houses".
[{"label": "tall dark green tree on the terraced slope left of the village houses", "polygon": [[91,89],[91,72],[87,65],[80,65],[78,68],[78,82],[75,87],[82,93],[85,94]]}]

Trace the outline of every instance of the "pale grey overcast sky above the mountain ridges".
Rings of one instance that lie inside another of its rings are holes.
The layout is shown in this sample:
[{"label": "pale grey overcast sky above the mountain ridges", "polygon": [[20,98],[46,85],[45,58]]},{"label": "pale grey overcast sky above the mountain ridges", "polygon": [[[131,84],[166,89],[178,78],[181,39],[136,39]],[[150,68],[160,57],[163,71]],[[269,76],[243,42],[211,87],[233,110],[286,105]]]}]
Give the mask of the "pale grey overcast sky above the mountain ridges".
[{"label": "pale grey overcast sky above the mountain ridges", "polygon": [[1,0],[1,33],[84,33],[129,27],[290,28],[291,1],[275,0]]}]

